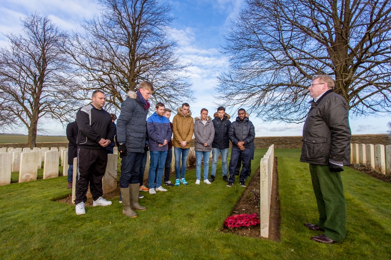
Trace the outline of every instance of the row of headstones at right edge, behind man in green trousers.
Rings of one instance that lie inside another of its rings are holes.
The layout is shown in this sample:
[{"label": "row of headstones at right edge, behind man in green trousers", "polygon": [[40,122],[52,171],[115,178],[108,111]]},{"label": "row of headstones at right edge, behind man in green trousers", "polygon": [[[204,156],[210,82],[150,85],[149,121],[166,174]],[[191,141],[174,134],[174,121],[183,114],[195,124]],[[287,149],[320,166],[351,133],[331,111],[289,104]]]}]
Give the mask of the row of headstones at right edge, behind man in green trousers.
[{"label": "row of headstones at right edge, behind man in green trousers", "polygon": [[391,174],[391,145],[350,144],[350,163],[367,165],[378,173]]}]

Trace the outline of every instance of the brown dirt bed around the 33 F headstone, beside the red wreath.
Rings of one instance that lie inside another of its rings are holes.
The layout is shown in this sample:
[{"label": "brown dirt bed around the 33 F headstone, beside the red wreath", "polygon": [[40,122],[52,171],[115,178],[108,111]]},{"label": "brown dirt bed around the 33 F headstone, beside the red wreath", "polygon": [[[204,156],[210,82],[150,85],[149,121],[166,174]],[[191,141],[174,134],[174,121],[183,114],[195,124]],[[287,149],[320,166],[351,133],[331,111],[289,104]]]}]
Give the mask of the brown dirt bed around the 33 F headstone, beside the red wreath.
[{"label": "brown dirt bed around the 33 F headstone, beside the red wreath", "polygon": [[[259,217],[259,188],[260,188],[260,169],[255,172],[254,176],[248,183],[246,189],[238,203],[232,210],[231,216],[237,214],[253,214],[257,213]],[[270,204],[270,223],[269,223],[269,240],[280,242],[280,200],[278,198],[278,173],[277,173],[277,158],[274,158],[273,168],[273,184],[271,186],[271,204]],[[260,224],[255,226],[243,226],[240,228],[228,228],[223,225],[222,232],[236,234],[245,237],[262,238],[260,236]]]}]

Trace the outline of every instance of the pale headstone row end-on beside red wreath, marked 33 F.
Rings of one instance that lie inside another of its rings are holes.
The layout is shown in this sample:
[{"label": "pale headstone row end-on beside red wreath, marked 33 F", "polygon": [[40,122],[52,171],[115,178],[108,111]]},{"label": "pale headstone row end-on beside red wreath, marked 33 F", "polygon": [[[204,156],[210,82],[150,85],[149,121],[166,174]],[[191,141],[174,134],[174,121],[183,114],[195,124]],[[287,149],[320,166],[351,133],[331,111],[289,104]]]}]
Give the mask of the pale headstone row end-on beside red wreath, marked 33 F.
[{"label": "pale headstone row end-on beside red wreath, marked 33 F", "polygon": [[269,146],[266,154],[261,159],[260,167],[260,226],[261,237],[269,237],[271,185],[273,182],[274,144]]}]

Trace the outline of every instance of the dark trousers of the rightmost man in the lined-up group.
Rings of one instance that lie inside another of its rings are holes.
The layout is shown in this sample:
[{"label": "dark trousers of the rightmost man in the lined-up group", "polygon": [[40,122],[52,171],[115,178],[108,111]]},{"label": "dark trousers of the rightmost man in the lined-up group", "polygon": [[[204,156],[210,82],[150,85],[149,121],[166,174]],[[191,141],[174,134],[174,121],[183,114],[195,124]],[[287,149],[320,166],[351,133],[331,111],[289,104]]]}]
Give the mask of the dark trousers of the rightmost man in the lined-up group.
[{"label": "dark trousers of the rightmost man in the lined-up group", "polygon": [[250,168],[250,149],[245,148],[244,151],[239,148],[232,146],[231,159],[230,159],[230,178],[229,182],[235,182],[235,171],[238,164],[239,157],[242,159],[242,171],[239,175],[239,181],[244,182],[247,178],[248,169]]}]

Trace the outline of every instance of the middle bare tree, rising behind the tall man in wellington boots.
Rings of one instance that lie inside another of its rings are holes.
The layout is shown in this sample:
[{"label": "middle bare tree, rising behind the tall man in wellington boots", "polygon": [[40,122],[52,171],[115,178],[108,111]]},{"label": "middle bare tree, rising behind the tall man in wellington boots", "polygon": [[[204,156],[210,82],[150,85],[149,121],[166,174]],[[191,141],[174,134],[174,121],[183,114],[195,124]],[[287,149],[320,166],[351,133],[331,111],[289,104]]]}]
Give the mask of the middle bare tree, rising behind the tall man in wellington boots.
[{"label": "middle bare tree, rising behind the tall man in wellington boots", "polygon": [[124,95],[149,80],[152,103],[175,107],[192,98],[187,64],[169,40],[171,7],[155,0],[100,0],[101,15],[82,24],[68,52],[84,80],[85,93],[101,89],[108,105],[120,109]]}]

